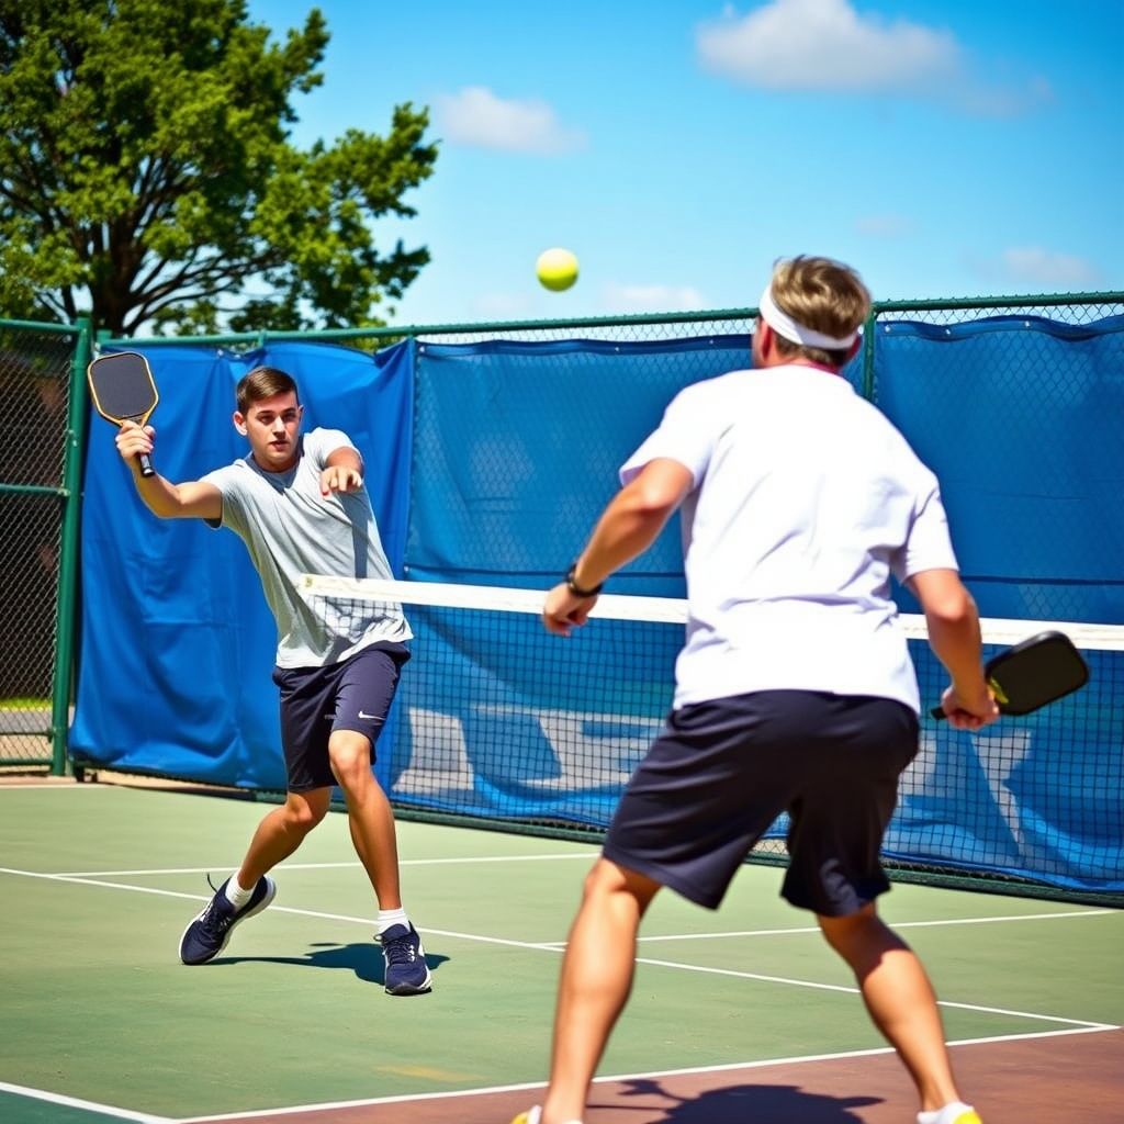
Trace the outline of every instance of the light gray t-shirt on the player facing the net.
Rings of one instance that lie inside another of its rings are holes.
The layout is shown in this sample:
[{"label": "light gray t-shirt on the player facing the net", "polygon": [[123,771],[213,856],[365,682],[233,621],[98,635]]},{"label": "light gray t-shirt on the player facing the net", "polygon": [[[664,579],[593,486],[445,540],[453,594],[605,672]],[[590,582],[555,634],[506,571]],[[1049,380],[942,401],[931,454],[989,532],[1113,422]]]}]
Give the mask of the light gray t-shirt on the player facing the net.
[{"label": "light gray t-shirt on the player facing the net", "polygon": [[[278,625],[281,668],[338,663],[379,641],[413,633],[401,606],[342,597],[305,596],[302,573],[392,578],[366,488],[320,495],[320,472],[337,448],[353,448],[339,429],[311,429],[288,472],[263,472],[251,455],[202,479],[223,495],[223,517],[246,544]],[[210,522],[210,520],[208,520]]]}]

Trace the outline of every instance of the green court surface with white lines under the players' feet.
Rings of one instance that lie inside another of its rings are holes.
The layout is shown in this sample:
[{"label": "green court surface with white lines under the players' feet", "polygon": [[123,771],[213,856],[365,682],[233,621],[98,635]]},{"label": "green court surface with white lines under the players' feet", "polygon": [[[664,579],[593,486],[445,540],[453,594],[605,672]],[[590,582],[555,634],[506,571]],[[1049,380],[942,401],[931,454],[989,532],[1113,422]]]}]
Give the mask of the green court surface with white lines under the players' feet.
[{"label": "green court surface with white lines under the players' feet", "polygon": [[[105,783],[0,786],[0,1120],[184,1120],[544,1080],[561,951],[596,847],[400,823],[434,990],[392,998],[371,890],[333,813],[275,871],[273,906],[211,964],[182,966],[207,874],[217,885],[237,865],[265,810]],[[656,899],[601,1075],[885,1045],[780,880],[745,867],[717,913]],[[908,885],[882,909],[925,960],[951,1042],[1093,1040],[1124,1023],[1124,913]]]}]

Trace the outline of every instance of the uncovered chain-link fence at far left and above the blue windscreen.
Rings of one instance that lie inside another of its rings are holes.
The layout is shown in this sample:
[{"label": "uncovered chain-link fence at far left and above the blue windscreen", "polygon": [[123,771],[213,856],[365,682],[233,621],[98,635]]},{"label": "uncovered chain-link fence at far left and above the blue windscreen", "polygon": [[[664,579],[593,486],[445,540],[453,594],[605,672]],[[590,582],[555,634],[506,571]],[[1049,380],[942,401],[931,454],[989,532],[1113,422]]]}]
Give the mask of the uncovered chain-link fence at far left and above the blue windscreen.
[{"label": "uncovered chain-link fence at far left and above the blue windscreen", "polygon": [[[663,316],[605,317],[556,321],[461,324],[321,333],[255,333],[209,337],[112,341],[128,346],[198,343],[233,350],[266,341],[341,343],[364,350],[413,337],[426,343],[591,339],[605,343],[747,337],[752,308]],[[977,298],[959,301],[891,301],[874,306],[864,352],[849,377],[878,400],[874,351],[881,330],[900,321],[953,326],[987,317],[1042,317],[1079,329],[1124,315],[1124,292]],[[109,342],[103,337],[103,342]],[[720,343],[716,344],[720,348]],[[0,320],[0,404],[6,439],[0,446],[0,769],[65,768],[65,732],[72,653],[78,626],[79,500],[85,437],[84,369],[90,353],[85,320],[72,326]],[[745,356],[746,361],[749,356]],[[1021,355],[1017,337],[1003,378],[1012,387],[1007,432],[1027,420],[1018,413],[1018,388],[1033,378],[1041,387],[1051,372],[1041,357]],[[950,371],[950,379],[955,378]],[[560,372],[564,381],[564,372]],[[1058,380],[1057,393],[1064,399]],[[933,419],[940,425],[940,418]],[[997,437],[999,434],[997,433]],[[531,451],[533,453],[533,451]],[[509,469],[509,465],[508,465]]]}]

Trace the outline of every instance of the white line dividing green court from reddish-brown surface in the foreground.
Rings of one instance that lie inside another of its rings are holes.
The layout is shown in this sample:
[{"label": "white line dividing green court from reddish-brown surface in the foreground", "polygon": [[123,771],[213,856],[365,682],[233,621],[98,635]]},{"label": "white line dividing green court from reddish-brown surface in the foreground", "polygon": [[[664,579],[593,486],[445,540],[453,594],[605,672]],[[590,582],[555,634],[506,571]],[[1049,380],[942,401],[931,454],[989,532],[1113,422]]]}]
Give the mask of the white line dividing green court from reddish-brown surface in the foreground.
[{"label": "white line dividing green court from reddish-brown surface in the foreground", "polygon": [[[1079,1031],[1043,1031],[1036,1034],[1005,1034],[992,1039],[962,1039],[949,1042],[950,1046],[988,1045],[994,1042],[1018,1042],[1026,1039],[1052,1039],[1069,1034],[1098,1034],[1104,1031],[1117,1031],[1118,1026],[1090,1026]],[[770,1066],[806,1066],[819,1061],[843,1061],[850,1058],[873,1058],[878,1054],[889,1054],[889,1046],[872,1050],[847,1050],[839,1053],[804,1054],[795,1058],[765,1058],[761,1061],[727,1062],[722,1066],[691,1066],[686,1069],[652,1070],[645,1073],[614,1073],[606,1077],[595,1077],[593,1085],[611,1085],[617,1081],[652,1081],[668,1077],[689,1077],[698,1073],[728,1073],[742,1069],[764,1069]],[[221,1116],[185,1116],[175,1124],[218,1124],[220,1121],[252,1120],[255,1116],[290,1116],[297,1113],[327,1112],[339,1108],[363,1108],[372,1105],[409,1104],[414,1100],[447,1100],[450,1097],[480,1097],[497,1093],[520,1093],[525,1089],[542,1089],[545,1081],[524,1081],[520,1085],[492,1085],[481,1089],[445,1090],[442,1093],[419,1093],[415,1096],[399,1094],[393,1097],[373,1097],[369,1100],[336,1100],[315,1105],[291,1105],[285,1108],[269,1108],[260,1112],[229,1113]]]}]

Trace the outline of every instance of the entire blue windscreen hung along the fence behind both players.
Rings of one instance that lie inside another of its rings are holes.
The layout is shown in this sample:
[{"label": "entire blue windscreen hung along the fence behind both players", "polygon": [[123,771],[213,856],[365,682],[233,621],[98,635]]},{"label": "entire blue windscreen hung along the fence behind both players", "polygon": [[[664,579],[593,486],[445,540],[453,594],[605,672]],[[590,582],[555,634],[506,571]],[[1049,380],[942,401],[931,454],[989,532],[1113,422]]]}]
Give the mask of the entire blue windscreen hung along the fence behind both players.
[{"label": "entire blue windscreen hung along the fence behind both players", "polygon": [[[396,573],[546,589],[674,393],[746,366],[749,346],[719,335],[408,342],[374,356],[307,343],[245,355],[151,347],[155,463],[185,480],[243,455],[234,386],[254,365],[278,365],[301,386],[306,426],[343,428],[363,453]],[[1024,619],[1027,634],[1043,619],[1124,624],[1124,318],[882,321],[872,362],[860,356],[844,372],[856,389],[864,374],[941,479],[984,616]],[[245,549],[227,531],[152,516],[98,418],[82,564],[75,760],[282,788],[277,636]],[[682,596],[678,520],[609,591]],[[663,629],[649,651],[647,626],[610,633],[595,622],[573,643],[533,617],[489,637],[471,615],[407,615],[415,656],[377,765],[393,798],[433,813],[604,825],[659,728],[680,637]],[[925,645],[913,651],[931,704],[943,672]],[[887,853],[1124,889],[1124,654],[1089,659],[1090,686],[1032,718],[975,738],[926,719]]]}]

